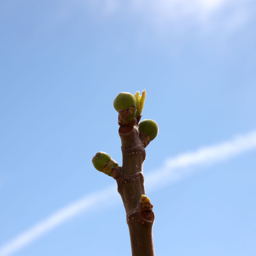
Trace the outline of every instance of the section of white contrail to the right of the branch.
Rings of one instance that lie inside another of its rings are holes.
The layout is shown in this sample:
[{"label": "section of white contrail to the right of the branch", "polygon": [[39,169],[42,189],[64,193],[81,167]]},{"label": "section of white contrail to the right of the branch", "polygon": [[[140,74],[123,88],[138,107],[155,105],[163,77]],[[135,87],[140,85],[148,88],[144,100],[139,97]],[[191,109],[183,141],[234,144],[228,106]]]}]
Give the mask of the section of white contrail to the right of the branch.
[{"label": "section of white contrail to the right of the branch", "polygon": [[144,174],[147,188],[153,189],[160,184],[180,180],[192,172],[191,167],[196,165],[216,163],[254,148],[256,148],[256,131],[236,136],[233,140],[220,144],[201,147],[196,151],[168,158],[162,167],[151,172],[148,177]]}]

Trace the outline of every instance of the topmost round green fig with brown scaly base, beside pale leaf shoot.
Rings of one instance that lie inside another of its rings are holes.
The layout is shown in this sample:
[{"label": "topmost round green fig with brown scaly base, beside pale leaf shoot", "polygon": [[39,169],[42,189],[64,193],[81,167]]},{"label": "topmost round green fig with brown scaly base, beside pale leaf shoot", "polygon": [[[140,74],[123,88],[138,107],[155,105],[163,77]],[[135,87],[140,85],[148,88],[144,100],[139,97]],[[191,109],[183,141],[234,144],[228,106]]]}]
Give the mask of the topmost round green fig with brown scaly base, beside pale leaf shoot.
[{"label": "topmost round green fig with brown scaly base, beside pale leaf shoot", "polygon": [[130,92],[120,92],[114,100],[114,108],[119,112],[119,119],[122,119],[124,123],[129,123],[135,118],[135,105],[135,97]]}]

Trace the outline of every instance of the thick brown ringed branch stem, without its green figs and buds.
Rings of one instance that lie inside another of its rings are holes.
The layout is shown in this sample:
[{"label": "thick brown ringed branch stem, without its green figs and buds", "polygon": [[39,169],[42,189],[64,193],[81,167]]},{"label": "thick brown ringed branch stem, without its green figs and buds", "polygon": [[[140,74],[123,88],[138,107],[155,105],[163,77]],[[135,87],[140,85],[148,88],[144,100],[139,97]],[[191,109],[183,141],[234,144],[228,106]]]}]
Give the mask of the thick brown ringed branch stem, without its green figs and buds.
[{"label": "thick brown ringed branch stem, without its green figs and buds", "polygon": [[124,203],[132,256],[155,256],[153,205],[146,207],[140,201],[141,195],[146,195],[143,177],[146,151],[139,139],[138,123],[121,125],[119,136],[122,142],[123,166],[113,168],[112,172]]}]

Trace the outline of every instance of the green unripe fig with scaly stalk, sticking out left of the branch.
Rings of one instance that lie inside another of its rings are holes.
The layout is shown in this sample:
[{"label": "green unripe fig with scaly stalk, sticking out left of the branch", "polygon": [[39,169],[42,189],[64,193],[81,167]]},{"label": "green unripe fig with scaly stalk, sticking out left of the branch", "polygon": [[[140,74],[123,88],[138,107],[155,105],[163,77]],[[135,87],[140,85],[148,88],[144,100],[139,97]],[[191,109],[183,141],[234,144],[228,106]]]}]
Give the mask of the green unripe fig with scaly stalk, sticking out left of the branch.
[{"label": "green unripe fig with scaly stalk, sticking out left of the branch", "polygon": [[119,166],[115,160],[105,152],[98,152],[92,158],[92,164],[96,170],[112,176],[112,168]]}]

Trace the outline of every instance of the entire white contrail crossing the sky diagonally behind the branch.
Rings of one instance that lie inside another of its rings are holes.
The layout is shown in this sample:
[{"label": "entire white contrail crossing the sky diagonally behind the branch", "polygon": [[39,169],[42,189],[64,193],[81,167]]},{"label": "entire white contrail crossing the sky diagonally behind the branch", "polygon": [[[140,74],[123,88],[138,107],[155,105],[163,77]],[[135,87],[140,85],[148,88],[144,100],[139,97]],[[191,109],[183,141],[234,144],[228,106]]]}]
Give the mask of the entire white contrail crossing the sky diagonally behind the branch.
[{"label": "entire white contrail crossing the sky diagonally behind the branch", "polygon": [[[168,181],[174,182],[184,178],[190,171],[187,167],[193,167],[200,164],[211,164],[220,160],[234,157],[238,154],[256,148],[256,131],[237,136],[233,140],[225,141],[220,144],[199,148],[196,151],[180,154],[176,157],[166,160],[163,167],[146,176],[147,188],[153,189],[156,186]],[[66,220],[76,216],[77,214],[92,209],[102,201],[108,201],[111,197],[117,195],[116,186],[107,188],[98,193],[93,193],[84,198],[69,204],[68,206],[53,213],[50,217],[40,221],[32,228],[21,233],[12,241],[4,244],[0,248],[0,256],[8,256],[18,251],[22,247],[28,245],[33,240],[50,231],[51,229],[62,224]]]}]

